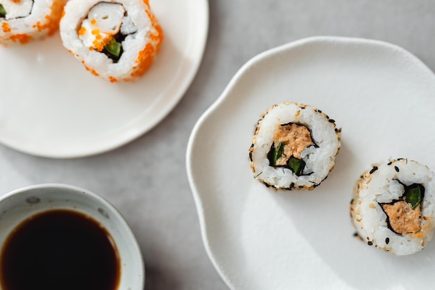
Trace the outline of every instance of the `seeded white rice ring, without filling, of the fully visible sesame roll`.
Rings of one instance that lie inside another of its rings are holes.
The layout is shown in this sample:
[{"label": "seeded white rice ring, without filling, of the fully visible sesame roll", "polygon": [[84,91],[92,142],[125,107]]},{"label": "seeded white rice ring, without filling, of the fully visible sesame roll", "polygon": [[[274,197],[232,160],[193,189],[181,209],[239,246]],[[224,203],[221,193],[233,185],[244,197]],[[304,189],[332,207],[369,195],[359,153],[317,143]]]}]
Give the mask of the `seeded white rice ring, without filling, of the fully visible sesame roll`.
[{"label": "seeded white rice ring, without filling, of the fully visible sesame roll", "polygon": [[[311,131],[316,146],[309,146],[301,153],[306,163],[302,175],[297,176],[286,167],[271,166],[268,152],[280,124],[302,124]],[[260,182],[274,188],[314,188],[334,168],[340,149],[340,130],[334,120],[313,106],[286,102],[276,104],[263,115],[256,128],[250,151],[251,167]]]}]

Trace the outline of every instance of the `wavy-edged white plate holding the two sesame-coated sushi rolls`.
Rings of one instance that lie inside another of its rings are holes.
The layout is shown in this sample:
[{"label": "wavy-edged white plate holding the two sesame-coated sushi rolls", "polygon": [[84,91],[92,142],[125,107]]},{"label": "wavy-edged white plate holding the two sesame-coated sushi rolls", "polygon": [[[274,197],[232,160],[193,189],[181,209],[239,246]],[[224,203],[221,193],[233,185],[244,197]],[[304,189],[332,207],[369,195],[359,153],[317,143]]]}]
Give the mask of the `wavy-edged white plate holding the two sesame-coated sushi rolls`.
[{"label": "wavy-edged white plate holding the two sesame-coated sushi rolls", "polygon": [[[231,289],[415,289],[434,284],[435,241],[396,257],[357,240],[349,203],[376,162],[435,169],[435,76],[385,42],[318,37],[256,56],[202,115],[187,169],[211,261]],[[336,166],[314,191],[257,182],[248,149],[277,102],[322,109],[342,131]]]}]

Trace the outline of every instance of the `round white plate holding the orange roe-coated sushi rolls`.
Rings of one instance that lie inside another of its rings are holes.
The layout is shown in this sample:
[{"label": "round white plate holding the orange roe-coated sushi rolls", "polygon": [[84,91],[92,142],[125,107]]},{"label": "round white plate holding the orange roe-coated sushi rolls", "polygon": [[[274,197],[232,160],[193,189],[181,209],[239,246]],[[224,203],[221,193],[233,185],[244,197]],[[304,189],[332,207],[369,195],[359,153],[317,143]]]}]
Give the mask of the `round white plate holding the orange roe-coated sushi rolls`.
[{"label": "round white plate holding the orange roe-coated sushi rolls", "polygon": [[202,59],[207,0],[151,0],[165,40],[150,70],[133,83],[87,72],[59,35],[0,47],[0,142],[53,158],[112,150],[145,134],[179,102]]}]

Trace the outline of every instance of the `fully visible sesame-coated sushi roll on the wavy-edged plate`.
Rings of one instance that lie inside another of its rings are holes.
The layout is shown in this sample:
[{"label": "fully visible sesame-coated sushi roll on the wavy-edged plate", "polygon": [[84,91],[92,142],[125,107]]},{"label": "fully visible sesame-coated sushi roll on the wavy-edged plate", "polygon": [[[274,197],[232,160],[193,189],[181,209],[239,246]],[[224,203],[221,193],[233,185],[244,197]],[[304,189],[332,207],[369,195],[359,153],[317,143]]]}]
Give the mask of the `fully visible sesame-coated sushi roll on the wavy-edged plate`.
[{"label": "fully visible sesame-coated sushi roll on the wavy-edged plate", "polygon": [[254,177],[277,189],[313,189],[334,168],[341,130],[314,106],[285,102],[258,121],[249,148]]}]

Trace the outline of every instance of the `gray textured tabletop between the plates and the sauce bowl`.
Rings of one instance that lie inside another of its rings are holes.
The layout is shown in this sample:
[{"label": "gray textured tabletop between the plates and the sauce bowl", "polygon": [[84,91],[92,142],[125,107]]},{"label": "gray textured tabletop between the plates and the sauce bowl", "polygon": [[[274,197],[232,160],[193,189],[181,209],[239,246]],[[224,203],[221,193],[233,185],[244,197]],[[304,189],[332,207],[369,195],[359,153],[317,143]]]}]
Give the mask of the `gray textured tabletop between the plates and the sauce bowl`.
[{"label": "gray textured tabletop between the plates and the sauce bowl", "polygon": [[138,140],[107,154],[52,160],[0,145],[0,194],[61,182],[99,193],[131,225],[147,266],[146,289],[227,289],[209,261],[186,177],[197,118],[249,58],[312,35],[392,42],[435,70],[432,0],[210,0],[204,61],[178,106]]}]

